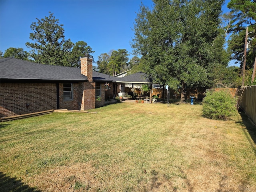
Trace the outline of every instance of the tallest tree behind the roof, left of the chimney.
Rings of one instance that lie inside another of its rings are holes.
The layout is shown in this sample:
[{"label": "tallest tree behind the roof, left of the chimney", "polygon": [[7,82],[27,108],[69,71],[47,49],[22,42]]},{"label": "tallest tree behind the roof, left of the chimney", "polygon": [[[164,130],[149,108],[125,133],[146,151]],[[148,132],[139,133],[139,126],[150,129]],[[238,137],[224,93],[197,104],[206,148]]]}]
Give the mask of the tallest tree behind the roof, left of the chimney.
[{"label": "tallest tree behind the roof, left of the chimney", "polygon": [[33,22],[30,28],[33,33],[30,33],[30,39],[34,41],[26,42],[28,48],[32,48],[30,56],[38,63],[50,65],[65,65],[62,63],[63,45],[66,43],[72,48],[70,39],[65,41],[63,24],[59,24],[58,19],[50,13],[48,17],[41,20],[36,18],[37,22]]}]

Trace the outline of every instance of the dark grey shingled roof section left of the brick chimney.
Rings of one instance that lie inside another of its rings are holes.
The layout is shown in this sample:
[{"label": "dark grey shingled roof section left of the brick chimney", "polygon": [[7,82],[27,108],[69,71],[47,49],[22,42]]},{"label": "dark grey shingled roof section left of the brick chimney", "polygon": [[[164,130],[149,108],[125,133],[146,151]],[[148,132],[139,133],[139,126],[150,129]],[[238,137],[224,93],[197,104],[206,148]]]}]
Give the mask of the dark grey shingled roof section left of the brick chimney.
[{"label": "dark grey shingled roof section left of the brick chimney", "polygon": [[87,81],[80,68],[38,64],[17,58],[0,58],[1,80]]}]

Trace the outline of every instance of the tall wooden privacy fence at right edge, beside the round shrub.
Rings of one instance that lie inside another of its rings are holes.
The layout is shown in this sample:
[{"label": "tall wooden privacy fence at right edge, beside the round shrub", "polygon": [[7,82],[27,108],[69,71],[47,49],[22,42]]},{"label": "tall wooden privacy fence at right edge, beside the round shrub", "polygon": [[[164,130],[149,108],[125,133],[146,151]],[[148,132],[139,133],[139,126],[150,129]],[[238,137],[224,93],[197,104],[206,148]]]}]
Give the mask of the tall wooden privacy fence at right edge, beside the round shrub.
[{"label": "tall wooden privacy fence at right edge, beside the round shrub", "polygon": [[256,124],[256,85],[243,87],[239,91],[240,107]]}]

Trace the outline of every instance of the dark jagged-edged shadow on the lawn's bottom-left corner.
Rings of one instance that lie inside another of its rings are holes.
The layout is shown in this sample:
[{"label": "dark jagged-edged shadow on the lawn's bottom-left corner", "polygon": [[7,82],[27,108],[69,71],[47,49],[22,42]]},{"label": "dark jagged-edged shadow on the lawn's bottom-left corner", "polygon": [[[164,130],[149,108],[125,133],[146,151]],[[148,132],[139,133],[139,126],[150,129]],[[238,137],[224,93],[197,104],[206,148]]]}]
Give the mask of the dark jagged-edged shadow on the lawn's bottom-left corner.
[{"label": "dark jagged-edged shadow on the lawn's bottom-left corner", "polygon": [[21,182],[21,180],[12,178],[10,176],[6,176],[6,174],[3,174],[2,172],[0,172],[0,191],[1,192],[9,192],[9,191],[41,192],[40,190],[31,188],[30,186]]}]

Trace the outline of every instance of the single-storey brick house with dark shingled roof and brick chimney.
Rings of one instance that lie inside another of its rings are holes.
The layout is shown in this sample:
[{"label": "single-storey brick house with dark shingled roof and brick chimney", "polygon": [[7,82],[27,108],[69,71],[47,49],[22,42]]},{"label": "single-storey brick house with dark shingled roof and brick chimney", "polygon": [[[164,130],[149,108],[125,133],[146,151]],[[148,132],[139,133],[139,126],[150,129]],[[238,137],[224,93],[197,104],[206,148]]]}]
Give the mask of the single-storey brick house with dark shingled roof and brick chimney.
[{"label": "single-storey brick house with dark shingled roof and brick chimney", "polygon": [[81,58],[81,68],[0,58],[0,117],[104,106],[106,96],[113,98],[116,92],[114,80],[94,72],[87,57]]}]

